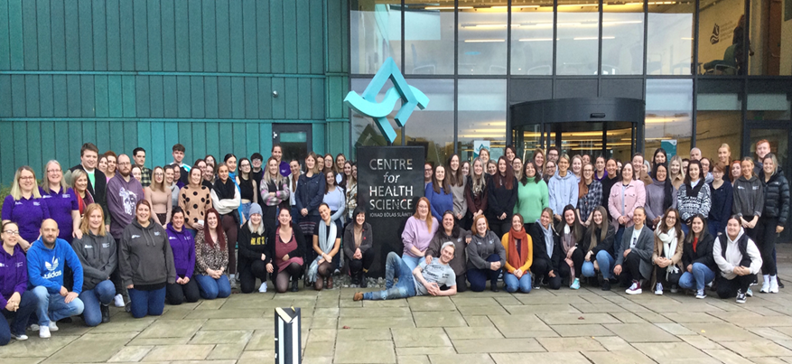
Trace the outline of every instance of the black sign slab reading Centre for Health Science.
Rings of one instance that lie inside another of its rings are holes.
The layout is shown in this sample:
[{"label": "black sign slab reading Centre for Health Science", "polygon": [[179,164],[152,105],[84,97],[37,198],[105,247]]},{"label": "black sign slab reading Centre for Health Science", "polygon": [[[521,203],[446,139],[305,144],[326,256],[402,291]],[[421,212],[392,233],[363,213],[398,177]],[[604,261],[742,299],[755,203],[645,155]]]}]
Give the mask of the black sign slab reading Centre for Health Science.
[{"label": "black sign slab reading Centre for Health Science", "polygon": [[358,206],[366,208],[374,237],[371,276],[385,275],[387,253],[402,254],[401,231],[423,196],[423,147],[358,147]]}]

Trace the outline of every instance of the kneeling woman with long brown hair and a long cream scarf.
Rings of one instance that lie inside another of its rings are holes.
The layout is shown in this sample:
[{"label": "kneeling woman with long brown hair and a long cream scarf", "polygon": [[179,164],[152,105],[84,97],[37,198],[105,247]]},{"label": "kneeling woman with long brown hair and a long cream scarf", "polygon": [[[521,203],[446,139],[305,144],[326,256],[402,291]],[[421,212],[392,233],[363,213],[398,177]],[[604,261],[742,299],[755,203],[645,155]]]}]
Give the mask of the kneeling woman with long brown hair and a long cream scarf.
[{"label": "kneeling woman with long brown hair and a long cream scarf", "polygon": [[685,233],[682,232],[679,213],[668,208],[663,214],[661,223],[655,229],[655,249],[652,263],[655,265],[655,294],[662,295],[663,289],[671,286],[671,293],[676,294],[676,285],[685,268],[682,266],[682,251]]}]

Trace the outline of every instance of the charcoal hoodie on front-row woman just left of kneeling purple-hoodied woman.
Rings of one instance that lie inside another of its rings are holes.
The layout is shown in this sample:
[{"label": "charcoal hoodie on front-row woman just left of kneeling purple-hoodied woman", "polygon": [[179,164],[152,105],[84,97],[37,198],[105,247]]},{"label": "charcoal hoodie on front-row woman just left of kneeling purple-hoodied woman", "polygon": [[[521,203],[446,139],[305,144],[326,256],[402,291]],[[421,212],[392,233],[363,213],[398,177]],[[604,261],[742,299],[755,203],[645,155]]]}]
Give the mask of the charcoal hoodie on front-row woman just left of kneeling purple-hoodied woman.
[{"label": "charcoal hoodie on front-row woman just left of kneeling purple-hoodied woman", "polygon": [[137,219],[132,221],[118,246],[118,267],[125,287],[176,283],[173,251],[165,229],[154,219],[145,228]]}]

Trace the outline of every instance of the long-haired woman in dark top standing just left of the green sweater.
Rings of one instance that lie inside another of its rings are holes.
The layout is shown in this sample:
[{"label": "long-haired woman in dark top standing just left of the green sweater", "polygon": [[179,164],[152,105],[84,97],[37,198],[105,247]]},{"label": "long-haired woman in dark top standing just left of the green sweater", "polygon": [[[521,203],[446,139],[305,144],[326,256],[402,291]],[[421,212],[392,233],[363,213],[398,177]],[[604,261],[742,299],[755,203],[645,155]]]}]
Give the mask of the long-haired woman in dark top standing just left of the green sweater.
[{"label": "long-haired woman in dark top standing just left of the green sweater", "polygon": [[511,229],[511,215],[517,204],[517,179],[511,168],[508,168],[506,157],[498,158],[498,172],[489,182],[487,219],[489,229],[500,239]]}]

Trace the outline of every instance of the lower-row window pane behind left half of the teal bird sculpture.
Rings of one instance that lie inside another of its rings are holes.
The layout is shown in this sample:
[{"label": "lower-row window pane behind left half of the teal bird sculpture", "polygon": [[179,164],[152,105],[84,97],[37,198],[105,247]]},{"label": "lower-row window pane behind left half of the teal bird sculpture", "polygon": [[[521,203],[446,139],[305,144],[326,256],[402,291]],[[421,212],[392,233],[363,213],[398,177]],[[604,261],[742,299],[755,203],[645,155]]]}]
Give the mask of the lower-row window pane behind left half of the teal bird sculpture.
[{"label": "lower-row window pane behind left half of the teal bird sculpture", "polygon": [[[352,79],[352,91],[355,91],[358,94],[363,93],[366,87],[368,87],[368,83],[370,81],[371,79]],[[392,87],[393,83],[388,80],[385,86],[379,90],[379,93],[377,94],[377,102],[382,102],[382,100],[385,98],[385,93]],[[396,130],[396,140],[393,142],[393,145],[402,145],[402,129],[396,125],[396,122],[393,121],[393,118],[396,117],[396,112],[398,112],[400,105],[401,101],[396,102],[396,107],[394,107],[394,110],[391,111],[387,116],[387,119],[390,121],[390,126]],[[385,136],[379,131],[377,123],[375,123],[371,117],[364,117],[354,110],[351,110],[351,112],[352,140],[355,141],[354,146],[387,145]]]}]

